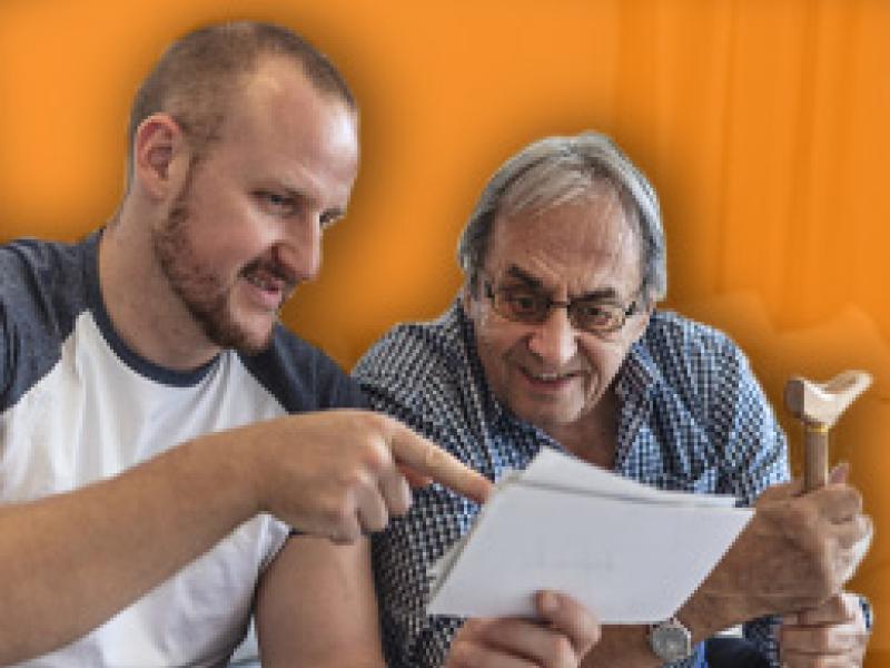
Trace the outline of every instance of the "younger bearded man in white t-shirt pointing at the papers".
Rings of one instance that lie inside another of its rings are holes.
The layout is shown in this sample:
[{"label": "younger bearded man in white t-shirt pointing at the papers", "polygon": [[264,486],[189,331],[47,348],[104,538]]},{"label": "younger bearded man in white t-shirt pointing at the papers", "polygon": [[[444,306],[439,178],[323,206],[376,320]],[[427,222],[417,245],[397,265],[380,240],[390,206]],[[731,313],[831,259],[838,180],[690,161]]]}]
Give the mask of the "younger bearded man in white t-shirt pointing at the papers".
[{"label": "younger bearded man in white t-shirt pointing at the papers", "polygon": [[[254,611],[267,666],[383,665],[363,533],[406,475],[490,483],[327,411],[365,402],[277,324],[346,210],[357,126],[301,38],[197,30],[137,96],[113,219],[0,247],[0,664],[220,666]],[[591,647],[590,612],[541,602],[541,642]]]}]

